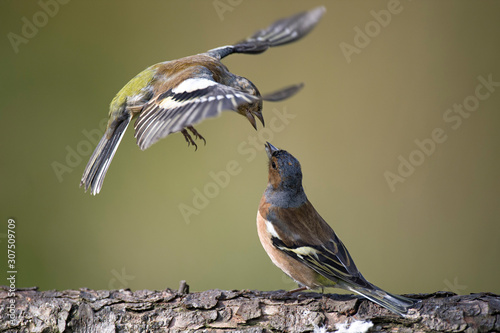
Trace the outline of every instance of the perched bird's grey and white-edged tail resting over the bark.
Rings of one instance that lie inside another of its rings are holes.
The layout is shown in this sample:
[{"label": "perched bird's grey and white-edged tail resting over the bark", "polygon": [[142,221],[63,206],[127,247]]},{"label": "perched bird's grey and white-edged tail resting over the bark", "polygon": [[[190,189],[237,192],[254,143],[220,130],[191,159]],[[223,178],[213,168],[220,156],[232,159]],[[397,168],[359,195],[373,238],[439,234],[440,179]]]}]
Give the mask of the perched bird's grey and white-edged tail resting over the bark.
[{"label": "perched bird's grey and white-edged tail resting over the bark", "polygon": [[348,289],[356,294],[368,298],[370,301],[383,306],[389,311],[392,311],[402,317],[408,313],[408,309],[415,306],[419,301],[408,297],[394,295],[388,293],[377,286],[370,284],[372,288],[366,288],[361,286],[346,285],[345,289]]}]

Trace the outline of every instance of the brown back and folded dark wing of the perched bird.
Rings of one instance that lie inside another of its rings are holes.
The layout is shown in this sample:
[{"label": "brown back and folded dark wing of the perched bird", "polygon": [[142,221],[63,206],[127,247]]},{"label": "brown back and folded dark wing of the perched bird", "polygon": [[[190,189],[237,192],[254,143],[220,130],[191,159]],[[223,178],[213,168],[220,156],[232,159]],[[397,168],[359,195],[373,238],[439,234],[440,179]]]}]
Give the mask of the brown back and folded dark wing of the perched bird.
[{"label": "brown back and folded dark wing of the perched bird", "polygon": [[[273,245],[332,281],[340,279],[349,284],[369,288],[370,283],[361,275],[342,241],[314,207],[309,202],[304,204],[306,205],[308,207],[307,210],[303,207],[305,211],[303,214],[290,212],[283,216],[282,213],[279,214],[280,219],[286,219],[286,222],[273,221],[274,235],[271,238]],[[310,223],[309,219],[316,221]],[[308,230],[306,234],[310,238],[300,238],[298,235],[301,233],[295,230],[302,230],[302,235],[304,230]],[[287,234],[295,236],[293,239],[286,239]]]}]

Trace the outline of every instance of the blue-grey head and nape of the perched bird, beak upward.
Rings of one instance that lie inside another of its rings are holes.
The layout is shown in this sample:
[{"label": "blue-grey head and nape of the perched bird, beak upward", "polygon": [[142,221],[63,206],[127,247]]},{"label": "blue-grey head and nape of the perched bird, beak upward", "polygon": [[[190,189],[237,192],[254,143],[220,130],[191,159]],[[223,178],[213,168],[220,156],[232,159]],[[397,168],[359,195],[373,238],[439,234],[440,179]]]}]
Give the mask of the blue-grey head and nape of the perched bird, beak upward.
[{"label": "blue-grey head and nape of the perched bird, beak upward", "polygon": [[278,149],[269,142],[266,142],[265,147],[269,158],[268,201],[281,207],[301,205],[307,198],[302,188],[299,161],[286,150]]}]

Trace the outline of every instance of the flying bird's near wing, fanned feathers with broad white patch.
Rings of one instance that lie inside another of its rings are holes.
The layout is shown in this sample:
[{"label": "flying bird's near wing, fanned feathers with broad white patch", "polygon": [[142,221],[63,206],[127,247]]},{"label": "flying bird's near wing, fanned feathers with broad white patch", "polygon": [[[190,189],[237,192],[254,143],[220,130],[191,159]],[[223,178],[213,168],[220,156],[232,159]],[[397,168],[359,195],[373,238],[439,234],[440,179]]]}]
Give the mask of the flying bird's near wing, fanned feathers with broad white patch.
[{"label": "flying bird's near wing, fanned feathers with broad white patch", "polygon": [[239,105],[259,100],[215,82],[209,73],[186,79],[146,104],[134,126],[137,144],[144,150],[170,133],[218,116],[222,110],[237,111]]}]

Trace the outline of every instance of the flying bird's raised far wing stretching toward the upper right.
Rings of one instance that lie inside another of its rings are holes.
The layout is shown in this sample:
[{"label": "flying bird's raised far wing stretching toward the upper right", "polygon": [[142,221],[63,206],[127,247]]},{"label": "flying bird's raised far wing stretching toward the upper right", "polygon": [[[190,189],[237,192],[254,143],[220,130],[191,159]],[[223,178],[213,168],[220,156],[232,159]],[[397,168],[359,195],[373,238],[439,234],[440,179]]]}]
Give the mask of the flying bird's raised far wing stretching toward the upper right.
[{"label": "flying bird's raised far wing stretching toward the upper right", "polygon": [[325,11],[325,7],[316,7],[310,11],[278,20],[235,45],[222,46],[207,53],[212,57],[222,59],[232,53],[257,54],[273,46],[295,42],[307,35],[318,24]]}]

